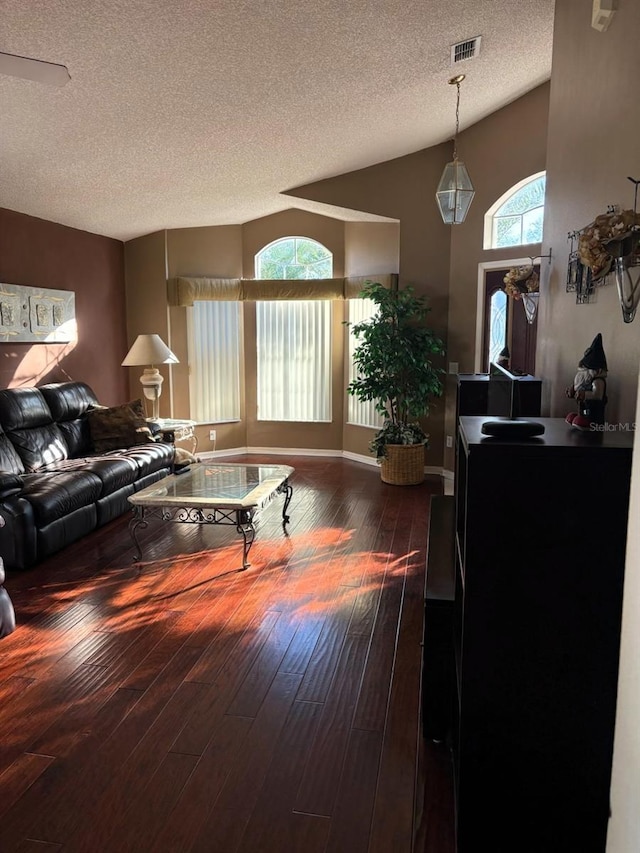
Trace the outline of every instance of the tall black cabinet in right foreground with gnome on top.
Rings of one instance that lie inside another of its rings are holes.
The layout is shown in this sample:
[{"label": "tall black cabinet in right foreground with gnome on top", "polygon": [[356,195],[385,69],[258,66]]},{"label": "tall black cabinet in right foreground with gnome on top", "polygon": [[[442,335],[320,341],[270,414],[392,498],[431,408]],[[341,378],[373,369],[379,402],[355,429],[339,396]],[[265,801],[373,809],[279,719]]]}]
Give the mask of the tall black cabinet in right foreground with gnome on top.
[{"label": "tall black cabinet in right foreground with gnome on top", "polygon": [[633,438],[459,422],[458,853],[603,853]]}]

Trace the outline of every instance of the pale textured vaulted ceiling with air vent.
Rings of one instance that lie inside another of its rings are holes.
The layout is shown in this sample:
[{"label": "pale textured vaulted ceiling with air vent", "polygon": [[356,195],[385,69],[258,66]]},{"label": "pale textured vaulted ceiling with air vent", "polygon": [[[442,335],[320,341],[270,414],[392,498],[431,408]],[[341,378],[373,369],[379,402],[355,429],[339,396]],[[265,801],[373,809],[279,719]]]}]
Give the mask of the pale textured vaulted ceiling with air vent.
[{"label": "pale textured vaulted ceiling with air vent", "polygon": [[0,207],[127,240],[246,222],[281,193],[451,138],[549,79],[554,0],[0,0]]}]

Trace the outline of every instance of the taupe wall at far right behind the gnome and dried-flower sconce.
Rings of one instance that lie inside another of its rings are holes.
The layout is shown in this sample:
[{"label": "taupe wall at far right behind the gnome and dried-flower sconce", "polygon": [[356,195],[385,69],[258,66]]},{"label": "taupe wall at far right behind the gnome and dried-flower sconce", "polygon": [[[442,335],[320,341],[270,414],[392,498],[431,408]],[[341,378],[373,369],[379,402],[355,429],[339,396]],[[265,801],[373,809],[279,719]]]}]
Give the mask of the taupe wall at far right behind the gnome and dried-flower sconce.
[{"label": "taupe wall at far right behind the gnome and dried-flower sconce", "polygon": [[[609,366],[609,422],[633,421],[640,357],[640,320],[622,321],[615,284],[598,288],[596,302],[576,305],[566,293],[567,232],[583,227],[607,205],[633,207],[640,178],[640,4],[621,2],[606,33],[591,27],[581,0],[556,4],[549,106],[544,244],[553,246],[550,286],[540,299],[537,369],[552,416],[573,411],[564,396],[576,365],[602,333]],[[546,298],[545,298],[546,297]]]}]

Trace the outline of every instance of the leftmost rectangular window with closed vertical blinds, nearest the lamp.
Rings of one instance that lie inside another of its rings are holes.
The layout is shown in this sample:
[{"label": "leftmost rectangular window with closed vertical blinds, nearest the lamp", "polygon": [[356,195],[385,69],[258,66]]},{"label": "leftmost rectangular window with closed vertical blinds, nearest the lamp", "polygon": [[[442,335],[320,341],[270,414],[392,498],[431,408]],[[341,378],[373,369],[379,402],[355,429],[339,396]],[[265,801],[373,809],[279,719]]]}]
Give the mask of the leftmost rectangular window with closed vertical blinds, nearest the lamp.
[{"label": "leftmost rectangular window with closed vertical blinds, nearest the lamp", "polygon": [[191,417],[240,419],[240,303],[194,302],[188,309]]}]

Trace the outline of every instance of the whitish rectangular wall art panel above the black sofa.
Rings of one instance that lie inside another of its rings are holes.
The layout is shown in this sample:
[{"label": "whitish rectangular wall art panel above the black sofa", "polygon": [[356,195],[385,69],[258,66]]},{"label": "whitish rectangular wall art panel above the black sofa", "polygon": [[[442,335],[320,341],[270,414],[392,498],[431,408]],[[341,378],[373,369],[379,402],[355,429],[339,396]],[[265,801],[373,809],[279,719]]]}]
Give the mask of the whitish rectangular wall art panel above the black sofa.
[{"label": "whitish rectangular wall art panel above the black sofa", "polygon": [[75,294],[20,284],[0,284],[1,343],[75,341]]}]

